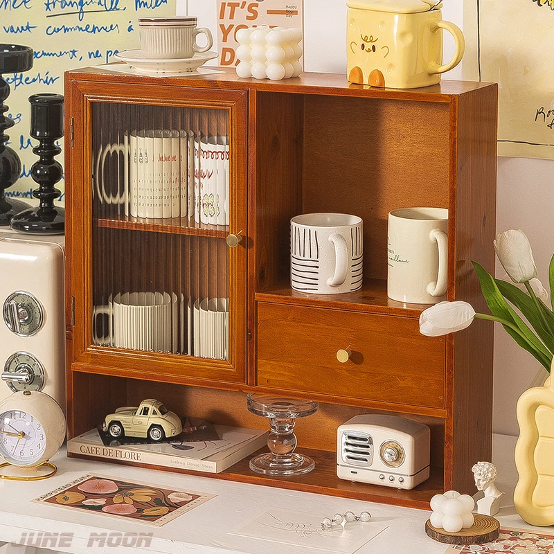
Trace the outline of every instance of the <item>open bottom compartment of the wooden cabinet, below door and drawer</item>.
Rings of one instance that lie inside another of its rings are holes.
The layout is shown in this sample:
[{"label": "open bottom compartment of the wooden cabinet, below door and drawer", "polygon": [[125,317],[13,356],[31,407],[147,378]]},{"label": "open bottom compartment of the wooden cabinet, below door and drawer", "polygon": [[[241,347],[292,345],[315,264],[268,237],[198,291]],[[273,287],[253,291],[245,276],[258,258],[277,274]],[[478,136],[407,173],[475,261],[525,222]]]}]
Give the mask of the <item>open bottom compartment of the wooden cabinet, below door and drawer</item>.
[{"label": "open bottom compartment of the wooden cabinet, below door and drawer", "polygon": [[[217,391],[209,388],[175,386],[170,384],[145,382],[140,379],[107,377],[88,373],[73,372],[69,384],[75,398],[87,391],[90,395],[109,390],[96,404],[85,406],[75,402],[69,418],[69,438],[82,434],[102,422],[107,413],[119,406],[138,406],[146,397],[161,400],[170,411],[179,415],[190,415],[195,418],[210,420],[220,425],[233,425],[249,429],[269,429],[267,420],[249,413],[246,395],[240,392]],[[157,470],[177,471],[199,476],[211,476],[229,481],[242,481],[272,487],[303,490],[330,496],[355,498],[365,501],[392,503],[400,506],[428,508],[434,494],[444,491],[444,454],[443,442],[445,421],[422,415],[407,415],[418,422],[429,425],[431,429],[431,476],[413,490],[364,483],[352,483],[337,477],[337,427],[354,415],[361,413],[387,413],[355,407],[320,404],[319,411],[309,418],[296,423],[298,452],[312,456],[316,462],[313,472],[298,477],[262,476],[252,472],[249,460],[267,448],[247,456],[242,461],[219,474],[190,472],[175,467],[148,466]],[[389,412],[390,413],[390,412]],[[71,454],[71,456],[73,456]],[[87,456],[90,458],[91,456]],[[99,461],[104,458],[95,458]],[[104,459],[105,461],[105,459]],[[118,461],[129,464],[129,462]],[[130,465],[133,465],[130,463]]]}]

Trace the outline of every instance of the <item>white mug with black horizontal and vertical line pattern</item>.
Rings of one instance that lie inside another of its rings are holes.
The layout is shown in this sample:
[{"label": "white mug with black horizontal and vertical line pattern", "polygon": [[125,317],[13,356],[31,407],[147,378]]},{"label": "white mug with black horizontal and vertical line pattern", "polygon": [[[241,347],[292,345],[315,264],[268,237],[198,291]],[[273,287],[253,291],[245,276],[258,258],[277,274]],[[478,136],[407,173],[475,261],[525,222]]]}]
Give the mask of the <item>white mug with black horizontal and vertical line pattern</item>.
[{"label": "white mug with black horizontal and vertical line pattern", "polygon": [[364,224],[356,215],[307,213],[290,225],[291,284],[307,294],[361,289]]}]

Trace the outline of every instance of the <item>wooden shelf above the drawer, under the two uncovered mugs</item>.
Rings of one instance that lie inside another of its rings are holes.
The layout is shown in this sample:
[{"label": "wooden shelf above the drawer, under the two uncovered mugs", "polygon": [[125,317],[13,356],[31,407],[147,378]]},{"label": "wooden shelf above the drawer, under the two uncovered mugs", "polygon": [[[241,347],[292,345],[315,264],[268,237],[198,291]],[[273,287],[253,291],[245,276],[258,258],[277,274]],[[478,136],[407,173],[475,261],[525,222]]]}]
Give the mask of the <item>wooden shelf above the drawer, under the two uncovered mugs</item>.
[{"label": "wooden shelf above the drawer, under the two uncovered mugs", "polygon": [[413,318],[418,318],[429,307],[427,304],[405,304],[391,300],[386,296],[384,279],[364,280],[361,289],[347,294],[305,294],[293,290],[287,279],[257,292],[256,301]]}]

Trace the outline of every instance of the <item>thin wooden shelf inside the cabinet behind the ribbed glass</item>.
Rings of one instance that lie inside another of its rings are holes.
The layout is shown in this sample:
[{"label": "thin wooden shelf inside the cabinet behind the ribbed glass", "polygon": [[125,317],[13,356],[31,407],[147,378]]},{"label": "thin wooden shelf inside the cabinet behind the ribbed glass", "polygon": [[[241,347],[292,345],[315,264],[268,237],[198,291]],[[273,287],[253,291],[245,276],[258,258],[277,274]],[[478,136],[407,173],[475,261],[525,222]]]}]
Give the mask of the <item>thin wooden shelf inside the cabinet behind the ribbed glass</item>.
[{"label": "thin wooden shelf inside the cabinet behind the ribbed glass", "polygon": [[94,220],[97,227],[105,229],[128,229],[147,233],[170,233],[172,235],[189,235],[195,237],[226,238],[229,227],[224,225],[202,226],[190,222],[188,218],[168,220],[143,220],[139,217],[125,217],[120,220],[99,218]]}]

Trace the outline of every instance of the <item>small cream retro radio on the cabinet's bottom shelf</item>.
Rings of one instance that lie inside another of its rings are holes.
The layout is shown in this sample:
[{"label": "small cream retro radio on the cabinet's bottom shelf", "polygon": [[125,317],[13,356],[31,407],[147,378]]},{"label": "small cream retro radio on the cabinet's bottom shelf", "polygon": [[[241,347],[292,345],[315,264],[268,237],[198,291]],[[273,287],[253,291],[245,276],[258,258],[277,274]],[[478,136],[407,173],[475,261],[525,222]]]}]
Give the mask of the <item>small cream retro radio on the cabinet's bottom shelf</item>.
[{"label": "small cream retro radio on the cabinet's bottom shelf", "polygon": [[337,431],[337,476],[413,489],[429,479],[431,431],[395,415],[357,415]]}]

